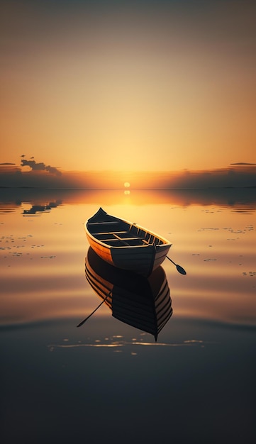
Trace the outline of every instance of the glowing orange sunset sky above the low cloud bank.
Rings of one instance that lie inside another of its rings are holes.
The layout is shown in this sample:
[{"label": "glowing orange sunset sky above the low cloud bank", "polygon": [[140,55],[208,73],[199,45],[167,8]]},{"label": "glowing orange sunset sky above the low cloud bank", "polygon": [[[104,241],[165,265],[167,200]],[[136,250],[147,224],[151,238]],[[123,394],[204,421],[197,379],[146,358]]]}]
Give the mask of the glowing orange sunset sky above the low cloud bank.
[{"label": "glowing orange sunset sky above the low cloud bank", "polygon": [[255,1],[2,0],[0,17],[0,162],[256,162]]}]

